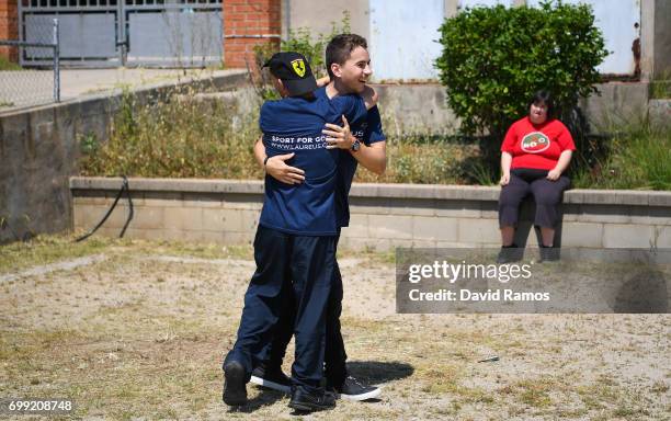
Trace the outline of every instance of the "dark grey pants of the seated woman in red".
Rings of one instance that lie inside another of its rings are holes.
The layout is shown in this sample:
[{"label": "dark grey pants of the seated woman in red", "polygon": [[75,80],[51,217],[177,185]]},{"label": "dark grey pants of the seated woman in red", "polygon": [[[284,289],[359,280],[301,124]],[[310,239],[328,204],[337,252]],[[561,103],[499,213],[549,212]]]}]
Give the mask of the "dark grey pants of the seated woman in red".
[{"label": "dark grey pants of the seated woman in red", "polygon": [[534,225],[554,228],[559,221],[561,195],[570,185],[568,177],[561,175],[556,181],[547,180],[547,171],[514,169],[510,182],[501,189],[499,196],[499,227],[516,226],[520,205],[527,195],[533,195],[536,203]]}]

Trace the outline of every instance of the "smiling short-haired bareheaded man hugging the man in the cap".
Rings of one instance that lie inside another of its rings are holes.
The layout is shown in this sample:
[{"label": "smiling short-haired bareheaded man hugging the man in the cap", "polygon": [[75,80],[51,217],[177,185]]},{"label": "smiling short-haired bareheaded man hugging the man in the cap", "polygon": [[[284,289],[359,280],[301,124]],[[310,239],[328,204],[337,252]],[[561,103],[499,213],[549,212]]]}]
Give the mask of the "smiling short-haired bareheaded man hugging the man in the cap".
[{"label": "smiling short-haired bareheaded man hugging the man in the cap", "polygon": [[[326,50],[327,70],[326,88],[315,91],[317,98],[337,99],[348,93],[362,93],[372,75],[371,59],[365,38],[355,34],[342,34],[333,37]],[[330,80],[330,81],[329,81]],[[354,179],[357,163],[382,174],[386,169],[386,138],[382,130],[382,121],[377,106],[368,110],[364,118],[352,121],[351,126],[343,117],[343,125],[327,124],[323,133],[328,135],[329,148],[340,151],[338,167],[337,214],[338,227],[346,227],[350,221],[349,192]],[[262,143],[254,146],[254,155],[260,162],[266,158]],[[299,164],[286,160],[291,155],[280,155],[268,159],[266,173],[284,183],[302,183],[305,172]],[[340,232],[339,232],[340,234]],[[338,262],[334,264],[334,276],[329,298],[326,342],[326,377],[330,388],[341,398],[365,400],[379,396],[380,390],[362,384],[348,375],[346,353],[340,328],[342,311],[342,278]],[[269,357],[252,373],[255,384],[277,390],[288,390],[289,380],[282,372],[282,360],[291,340],[292,315],[284,317],[275,331]]]}]

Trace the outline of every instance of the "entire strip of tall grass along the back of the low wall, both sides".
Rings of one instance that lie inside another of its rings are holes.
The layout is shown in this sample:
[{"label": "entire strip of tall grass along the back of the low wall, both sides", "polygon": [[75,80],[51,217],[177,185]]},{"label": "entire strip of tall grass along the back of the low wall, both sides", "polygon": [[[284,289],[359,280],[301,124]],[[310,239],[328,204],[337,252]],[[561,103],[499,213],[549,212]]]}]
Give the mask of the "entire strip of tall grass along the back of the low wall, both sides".
[{"label": "entire strip of tall grass along the back of the low wall, both sides", "polygon": [[[260,135],[257,118],[258,110],[240,116],[224,102],[200,101],[195,92],[145,105],[126,93],[110,140],[81,138],[81,173],[261,179],[252,153]],[[498,164],[485,159],[481,141],[406,134],[388,118],[385,126],[390,128],[387,171],[376,175],[360,166],[356,181],[491,185],[498,180]],[[581,160],[573,167],[576,186],[671,190],[669,130],[648,122],[607,130],[614,135],[599,139],[599,153],[576,152],[575,160]]]}]

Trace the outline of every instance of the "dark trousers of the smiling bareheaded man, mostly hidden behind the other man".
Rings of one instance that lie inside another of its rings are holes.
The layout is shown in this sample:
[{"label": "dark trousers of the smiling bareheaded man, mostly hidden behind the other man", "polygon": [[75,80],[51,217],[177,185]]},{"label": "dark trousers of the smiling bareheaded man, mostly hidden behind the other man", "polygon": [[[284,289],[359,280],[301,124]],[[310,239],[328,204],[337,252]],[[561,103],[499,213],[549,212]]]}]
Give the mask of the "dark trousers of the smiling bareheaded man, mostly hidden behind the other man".
[{"label": "dark trousers of the smiling bareheaded man, mostly hidden behind the other man", "polygon": [[[338,237],[339,239],[340,237]],[[336,241],[338,243],[338,240]],[[338,261],[333,261],[333,280],[331,283],[331,294],[327,309],[327,329],[326,329],[326,376],[333,385],[341,385],[348,376],[346,360],[348,355],[344,349],[340,327],[340,315],[342,314],[342,276]],[[292,307],[287,307],[289,311],[280,317],[280,321],[274,330],[273,341],[270,345],[270,356],[265,362],[269,366],[282,365],[282,360],[286,353],[286,346],[292,340],[292,330],[294,314]]]}]

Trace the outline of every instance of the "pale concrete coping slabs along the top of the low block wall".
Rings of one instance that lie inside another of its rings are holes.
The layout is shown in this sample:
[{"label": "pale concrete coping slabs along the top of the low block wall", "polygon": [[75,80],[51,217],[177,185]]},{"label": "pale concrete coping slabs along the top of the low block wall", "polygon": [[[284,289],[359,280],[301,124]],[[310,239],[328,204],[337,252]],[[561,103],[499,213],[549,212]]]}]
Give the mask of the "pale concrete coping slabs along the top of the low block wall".
[{"label": "pale concrete coping slabs along the top of the low block wall", "polygon": [[[71,190],[116,191],[122,185],[121,178],[72,177]],[[129,179],[132,191],[177,192],[177,193],[240,193],[262,194],[263,181],[260,180],[211,180],[211,179]],[[352,197],[371,198],[417,198],[417,200],[459,200],[498,201],[500,187],[473,185],[436,184],[378,184],[354,183]],[[671,192],[636,190],[569,190],[564,194],[565,204],[580,205],[634,205],[671,207]]]}]

